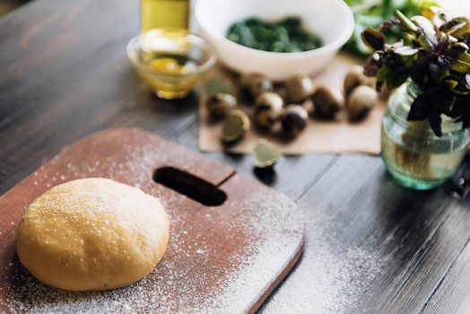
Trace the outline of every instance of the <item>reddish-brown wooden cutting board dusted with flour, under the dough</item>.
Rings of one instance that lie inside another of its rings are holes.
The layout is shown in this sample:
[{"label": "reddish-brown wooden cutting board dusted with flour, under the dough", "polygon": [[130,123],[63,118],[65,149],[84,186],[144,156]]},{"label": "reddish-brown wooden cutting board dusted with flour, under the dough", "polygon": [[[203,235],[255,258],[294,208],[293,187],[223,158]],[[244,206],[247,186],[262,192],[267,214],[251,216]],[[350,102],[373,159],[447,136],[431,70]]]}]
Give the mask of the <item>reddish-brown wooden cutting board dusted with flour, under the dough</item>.
[{"label": "reddish-brown wooden cutting board dusted with flour, under the dough", "polygon": [[[91,177],[159,197],[170,217],[169,247],[131,286],[60,291],[20,265],[16,229],[48,188]],[[303,215],[286,196],[137,129],[102,131],[65,148],[0,197],[0,217],[0,312],[254,312],[298,261],[304,239]]]}]

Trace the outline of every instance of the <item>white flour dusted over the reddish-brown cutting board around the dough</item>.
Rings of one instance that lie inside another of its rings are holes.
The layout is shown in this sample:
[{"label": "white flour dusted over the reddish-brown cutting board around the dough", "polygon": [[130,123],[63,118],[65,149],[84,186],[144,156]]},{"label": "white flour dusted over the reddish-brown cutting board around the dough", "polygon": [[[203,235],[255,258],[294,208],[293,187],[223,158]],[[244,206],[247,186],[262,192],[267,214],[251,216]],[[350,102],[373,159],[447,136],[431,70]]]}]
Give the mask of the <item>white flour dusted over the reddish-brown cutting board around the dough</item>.
[{"label": "white flour dusted over the reddish-brown cutting board around the dough", "polygon": [[[164,191],[161,202],[171,227],[169,248],[161,263],[152,274],[125,288],[65,292],[39,283],[14,259],[8,266],[9,283],[0,286],[0,303],[12,313],[246,312],[252,305],[249,301],[261,297],[299,249],[304,218],[286,196],[260,186],[257,192],[246,191],[242,204],[229,196],[221,207],[187,210],[193,201],[153,183],[152,170],[168,162],[197,169],[195,161],[186,151],[157,153],[161,150],[152,139],[137,149],[128,144],[132,142],[125,137],[121,143],[113,142],[124,152],[119,160],[97,157],[116,149],[106,143],[97,146],[102,152],[83,156],[86,161],[80,164],[68,162],[65,151],[54,159],[60,168],[57,173],[41,167],[34,179],[39,186],[57,185],[92,177],[100,170],[110,179],[139,186],[154,196]],[[202,221],[205,224],[196,223]]]}]

